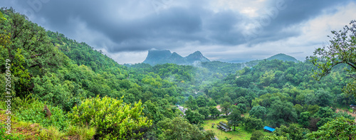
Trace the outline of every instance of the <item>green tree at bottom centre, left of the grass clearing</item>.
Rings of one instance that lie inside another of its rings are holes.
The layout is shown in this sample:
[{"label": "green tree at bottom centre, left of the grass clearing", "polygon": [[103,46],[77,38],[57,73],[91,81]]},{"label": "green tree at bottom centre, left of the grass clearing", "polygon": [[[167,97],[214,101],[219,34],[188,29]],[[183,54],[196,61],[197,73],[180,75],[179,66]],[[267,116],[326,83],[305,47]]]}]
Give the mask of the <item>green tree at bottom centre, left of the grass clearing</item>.
[{"label": "green tree at bottom centre, left of the grass clearing", "polygon": [[214,132],[200,131],[196,125],[189,124],[186,119],[182,117],[175,117],[173,119],[166,118],[157,123],[157,126],[162,130],[158,139],[214,139]]}]

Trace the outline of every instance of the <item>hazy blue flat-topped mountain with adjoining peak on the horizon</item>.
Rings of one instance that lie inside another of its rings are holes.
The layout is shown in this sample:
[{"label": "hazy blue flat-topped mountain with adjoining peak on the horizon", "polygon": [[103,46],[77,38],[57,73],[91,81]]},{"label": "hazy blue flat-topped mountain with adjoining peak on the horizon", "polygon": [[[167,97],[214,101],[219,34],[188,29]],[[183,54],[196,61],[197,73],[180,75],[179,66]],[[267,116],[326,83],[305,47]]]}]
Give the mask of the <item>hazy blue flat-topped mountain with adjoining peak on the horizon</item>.
[{"label": "hazy blue flat-topped mountain with adjoining peak on the horizon", "polygon": [[182,57],[178,53],[171,53],[169,50],[148,50],[148,55],[143,63],[150,65],[174,63],[178,65],[193,65],[196,62],[210,62],[203,54],[196,51],[187,57]]}]

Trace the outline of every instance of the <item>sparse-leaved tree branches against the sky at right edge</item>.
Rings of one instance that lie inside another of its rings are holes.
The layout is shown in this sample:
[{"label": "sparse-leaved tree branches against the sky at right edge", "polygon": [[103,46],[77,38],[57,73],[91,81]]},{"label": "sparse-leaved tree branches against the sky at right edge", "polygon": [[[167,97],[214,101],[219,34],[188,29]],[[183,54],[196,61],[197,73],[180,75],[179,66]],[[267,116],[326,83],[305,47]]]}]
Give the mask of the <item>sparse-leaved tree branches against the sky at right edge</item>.
[{"label": "sparse-leaved tree branches against the sky at right edge", "polygon": [[[350,26],[345,26],[342,31],[331,31],[333,38],[330,38],[330,44],[324,45],[323,48],[318,48],[314,51],[314,55],[308,59],[318,67],[314,70],[316,80],[320,80],[325,75],[339,64],[345,63],[350,66],[347,71],[352,82],[347,83],[343,89],[345,92],[356,95],[356,76],[352,75],[356,72],[356,21],[351,21]],[[356,97],[356,96],[355,96]]]}]

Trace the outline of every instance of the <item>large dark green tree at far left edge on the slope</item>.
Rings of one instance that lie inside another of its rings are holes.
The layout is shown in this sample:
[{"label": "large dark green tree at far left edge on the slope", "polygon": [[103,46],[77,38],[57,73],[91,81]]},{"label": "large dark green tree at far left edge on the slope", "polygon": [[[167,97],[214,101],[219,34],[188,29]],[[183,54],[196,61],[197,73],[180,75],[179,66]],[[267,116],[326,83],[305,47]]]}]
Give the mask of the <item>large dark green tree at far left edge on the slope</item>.
[{"label": "large dark green tree at far left edge on the slope", "polygon": [[10,38],[5,38],[9,39],[9,43],[1,49],[7,51],[6,58],[11,60],[11,73],[19,77],[19,80],[14,81],[16,93],[24,97],[26,92],[33,90],[32,77],[51,72],[52,68],[58,68],[67,61],[63,53],[59,53],[53,46],[44,28],[28,21],[26,16],[14,9],[6,9],[5,13],[9,19],[1,23],[1,34],[9,35]]}]

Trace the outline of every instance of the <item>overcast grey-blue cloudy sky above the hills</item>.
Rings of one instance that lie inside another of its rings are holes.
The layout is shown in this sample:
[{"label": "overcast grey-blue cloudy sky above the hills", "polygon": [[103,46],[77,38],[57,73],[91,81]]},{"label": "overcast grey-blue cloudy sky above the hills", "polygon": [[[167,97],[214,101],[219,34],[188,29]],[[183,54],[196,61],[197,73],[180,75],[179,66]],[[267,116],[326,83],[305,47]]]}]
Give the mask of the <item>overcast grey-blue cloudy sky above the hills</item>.
[{"label": "overcast grey-blue cloudy sky above the hills", "polygon": [[355,0],[1,0],[38,25],[103,50],[117,63],[142,63],[147,50],[210,60],[277,53],[305,60],[330,31],[356,19]]}]

